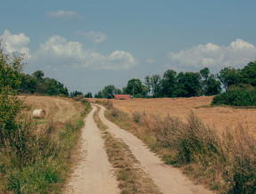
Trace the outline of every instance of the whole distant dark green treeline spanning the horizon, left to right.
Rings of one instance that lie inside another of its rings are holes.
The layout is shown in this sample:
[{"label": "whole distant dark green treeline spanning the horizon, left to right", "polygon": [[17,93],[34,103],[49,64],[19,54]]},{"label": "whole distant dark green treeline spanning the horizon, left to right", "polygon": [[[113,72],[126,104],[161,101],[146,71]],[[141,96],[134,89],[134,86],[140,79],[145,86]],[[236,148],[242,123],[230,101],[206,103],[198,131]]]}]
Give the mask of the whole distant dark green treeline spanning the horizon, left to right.
[{"label": "whole distant dark green treeline spanning the horizon, left to right", "polygon": [[[45,77],[42,70],[32,75],[23,74],[20,93],[38,93],[43,95],[62,95],[85,98],[112,99],[114,94],[130,94],[133,98],[162,98],[162,97],[193,97],[218,95],[233,90],[256,90],[256,61],[248,63],[243,69],[232,67],[220,69],[216,75],[208,68],[199,72],[176,72],[167,70],[162,76],[146,76],[144,82],[133,78],[128,80],[122,89],[114,85],[106,85],[103,90],[95,93],[73,91],[69,93],[64,85],[54,78]],[[251,101],[251,100],[250,100]]]}]

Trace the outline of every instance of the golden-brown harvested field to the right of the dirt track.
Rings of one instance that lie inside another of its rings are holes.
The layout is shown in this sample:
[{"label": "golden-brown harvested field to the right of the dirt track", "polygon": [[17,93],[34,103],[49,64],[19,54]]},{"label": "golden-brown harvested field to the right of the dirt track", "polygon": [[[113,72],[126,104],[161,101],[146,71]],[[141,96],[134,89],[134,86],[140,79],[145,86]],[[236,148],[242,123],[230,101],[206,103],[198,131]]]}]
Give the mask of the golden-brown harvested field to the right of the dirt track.
[{"label": "golden-brown harvested field to the right of the dirt track", "polygon": [[199,108],[211,104],[213,96],[193,98],[161,98],[161,99],[133,99],[111,100],[113,105],[129,114],[133,111],[149,114],[180,117],[186,121],[192,110],[200,117],[203,123],[215,126],[218,130],[227,127],[235,128],[238,125],[248,127],[256,135],[256,109],[233,109],[229,107]]}]

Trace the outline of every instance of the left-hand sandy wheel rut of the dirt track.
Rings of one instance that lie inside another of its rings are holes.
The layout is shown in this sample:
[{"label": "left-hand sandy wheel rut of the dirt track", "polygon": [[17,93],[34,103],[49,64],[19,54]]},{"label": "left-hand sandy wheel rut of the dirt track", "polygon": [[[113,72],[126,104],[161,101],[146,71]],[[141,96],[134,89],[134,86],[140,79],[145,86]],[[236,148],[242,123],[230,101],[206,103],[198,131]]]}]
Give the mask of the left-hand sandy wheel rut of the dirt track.
[{"label": "left-hand sandy wheel rut of the dirt track", "polygon": [[93,118],[95,109],[94,106],[86,118],[81,137],[82,158],[71,174],[64,193],[120,193],[103,147],[101,132]]}]

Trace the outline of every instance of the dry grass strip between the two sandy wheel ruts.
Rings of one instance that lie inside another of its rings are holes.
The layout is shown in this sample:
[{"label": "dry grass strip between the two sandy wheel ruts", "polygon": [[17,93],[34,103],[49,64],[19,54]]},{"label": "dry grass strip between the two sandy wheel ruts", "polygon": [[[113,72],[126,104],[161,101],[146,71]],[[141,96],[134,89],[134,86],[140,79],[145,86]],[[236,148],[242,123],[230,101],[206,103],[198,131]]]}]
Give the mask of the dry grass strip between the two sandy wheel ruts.
[{"label": "dry grass strip between the two sandy wheel ruts", "polygon": [[98,117],[97,108],[94,114],[97,126],[103,130],[103,139],[111,165],[115,168],[121,193],[161,193],[152,179],[139,167],[138,161],[132,155],[128,146],[106,131]]}]

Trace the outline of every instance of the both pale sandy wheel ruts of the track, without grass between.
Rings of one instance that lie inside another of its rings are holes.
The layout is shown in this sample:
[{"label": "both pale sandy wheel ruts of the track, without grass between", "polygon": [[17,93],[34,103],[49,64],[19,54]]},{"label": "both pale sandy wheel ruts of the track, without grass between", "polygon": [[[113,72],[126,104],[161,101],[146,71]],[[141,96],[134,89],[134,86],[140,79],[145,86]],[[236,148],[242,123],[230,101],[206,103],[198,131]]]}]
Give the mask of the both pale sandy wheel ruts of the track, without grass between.
[{"label": "both pale sandy wheel ruts of the track, without grass between", "polygon": [[[136,136],[107,120],[104,117],[105,109],[103,106],[100,107],[99,117],[103,124],[109,127],[107,131],[128,145],[142,169],[150,174],[162,193],[212,193],[188,181],[178,169],[165,165],[153,152],[145,148],[144,143]],[[113,176],[111,164],[103,147],[101,132],[93,118],[95,109],[93,105],[93,110],[85,120],[86,126],[82,129],[81,137],[82,158],[74,173],[71,174],[70,182],[64,189],[65,193],[120,193],[118,182]]]}]

